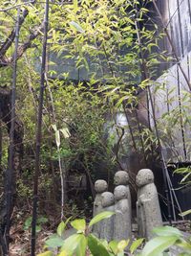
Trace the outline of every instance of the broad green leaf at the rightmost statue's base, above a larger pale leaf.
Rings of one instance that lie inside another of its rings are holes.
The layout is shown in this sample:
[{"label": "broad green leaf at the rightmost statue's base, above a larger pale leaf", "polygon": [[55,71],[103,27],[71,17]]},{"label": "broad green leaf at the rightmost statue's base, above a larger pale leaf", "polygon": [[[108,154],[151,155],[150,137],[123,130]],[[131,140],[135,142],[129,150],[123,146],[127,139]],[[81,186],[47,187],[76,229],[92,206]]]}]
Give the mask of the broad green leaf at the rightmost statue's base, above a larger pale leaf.
[{"label": "broad green leaf at the rightmost statue's base, above a larger pale leaf", "polygon": [[168,236],[177,236],[182,237],[182,233],[180,230],[173,226],[159,226],[153,229],[153,233],[157,234],[161,237],[168,237]]}]

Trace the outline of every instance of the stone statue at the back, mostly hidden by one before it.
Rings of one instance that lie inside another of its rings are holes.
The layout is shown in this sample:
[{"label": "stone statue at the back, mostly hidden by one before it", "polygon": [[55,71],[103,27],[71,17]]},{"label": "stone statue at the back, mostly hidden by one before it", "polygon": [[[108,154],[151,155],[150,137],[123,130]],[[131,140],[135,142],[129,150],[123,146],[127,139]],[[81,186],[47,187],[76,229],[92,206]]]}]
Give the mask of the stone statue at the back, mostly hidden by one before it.
[{"label": "stone statue at the back, mostly hidden by one before it", "polygon": [[127,197],[129,202],[129,211],[132,218],[132,202],[131,202],[131,193],[129,187],[129,175],[125,171],[118,171],[114,176],[114,183],[116,186],[124,185],[127,188]]}]

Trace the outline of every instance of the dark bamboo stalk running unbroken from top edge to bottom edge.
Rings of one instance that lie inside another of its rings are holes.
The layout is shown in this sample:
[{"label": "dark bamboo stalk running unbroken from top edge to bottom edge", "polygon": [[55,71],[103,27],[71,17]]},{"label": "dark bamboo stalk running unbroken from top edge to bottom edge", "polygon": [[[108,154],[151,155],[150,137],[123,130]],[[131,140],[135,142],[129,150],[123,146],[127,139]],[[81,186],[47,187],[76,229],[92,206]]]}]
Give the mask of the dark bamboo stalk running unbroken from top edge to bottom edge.
[{"label": "dark bamboo stalk running unbroken from top edge to bottom edge", "polygon": [[36,125],[36,146],[35,146],[35,171],[33,176],[33,207],[32,207],[32,252],[35,256],[35,242],[36,242],[36,221],[37,221],[37,204],[38,204],[38,176],[40,172],[40,147],[42,138],[42,110],[43,97],[45,90],[45,68],[47,55],[47,39],[48,39],[48,25],[49,25],[49,0],[45,4],[44,17],[44,37],[42,49],[42,64],[41,64],[41,78],[40,78],[40,95],[38,105],[38,119]]}]

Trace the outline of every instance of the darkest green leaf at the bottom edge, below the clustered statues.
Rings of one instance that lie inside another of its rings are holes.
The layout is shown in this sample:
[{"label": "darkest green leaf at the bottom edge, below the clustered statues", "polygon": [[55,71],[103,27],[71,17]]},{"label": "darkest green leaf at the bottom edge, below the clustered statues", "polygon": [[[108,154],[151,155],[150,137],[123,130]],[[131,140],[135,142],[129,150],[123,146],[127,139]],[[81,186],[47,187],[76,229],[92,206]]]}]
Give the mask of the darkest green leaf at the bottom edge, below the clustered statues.
[{"label": "darkest green leaf at the bottom edge, below the clustered statues", "polygon": [[110,256],[107,248],[93,234],[88,236],[88,246],[93,256]]}]

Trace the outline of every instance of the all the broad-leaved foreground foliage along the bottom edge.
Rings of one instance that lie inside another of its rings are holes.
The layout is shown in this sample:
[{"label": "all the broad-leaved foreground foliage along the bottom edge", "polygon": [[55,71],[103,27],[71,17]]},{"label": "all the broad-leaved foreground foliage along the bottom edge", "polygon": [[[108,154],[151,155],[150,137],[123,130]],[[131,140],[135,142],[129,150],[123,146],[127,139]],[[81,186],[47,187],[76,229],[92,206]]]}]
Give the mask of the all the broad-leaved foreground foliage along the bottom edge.
[{"label": "all the broad-leaved foreground foliage along the bottom edge", "polygon": [[[57,233],[53,234],[46,241],[46,252],[48,255],[90,255],[93,256],[122,256],[124,255],[124,249],[129,245],[129,240],[123,240],[120,242],[111,241],[109,244],[105,240],[99,240],[94,234],[90,233],[90,227],[98,221],[110,218],[113,215],[111,212],[103,212],[96,215],[95,218],[90,221],[86,226],[84,219],[78,219],[71,222],[71,225],[76,229],[76,234],[64,238],[64,230],[68,223],[62,221],[57,227]],[[131,255],[139,256],[159,256],[168,255],[167,250],[172,246],[180,248],[179,255],[189,256],[191,251],[191,237],[185,238],[183,233],[179,229],[172,226],[157,227],[153,230],[155,237],[147,242],[144,247],[137,251],[138,247],[143,244],[144,239],[138,239],[129,246]],[[38,256],[45,255],[44,253],[38,254]]]}]

